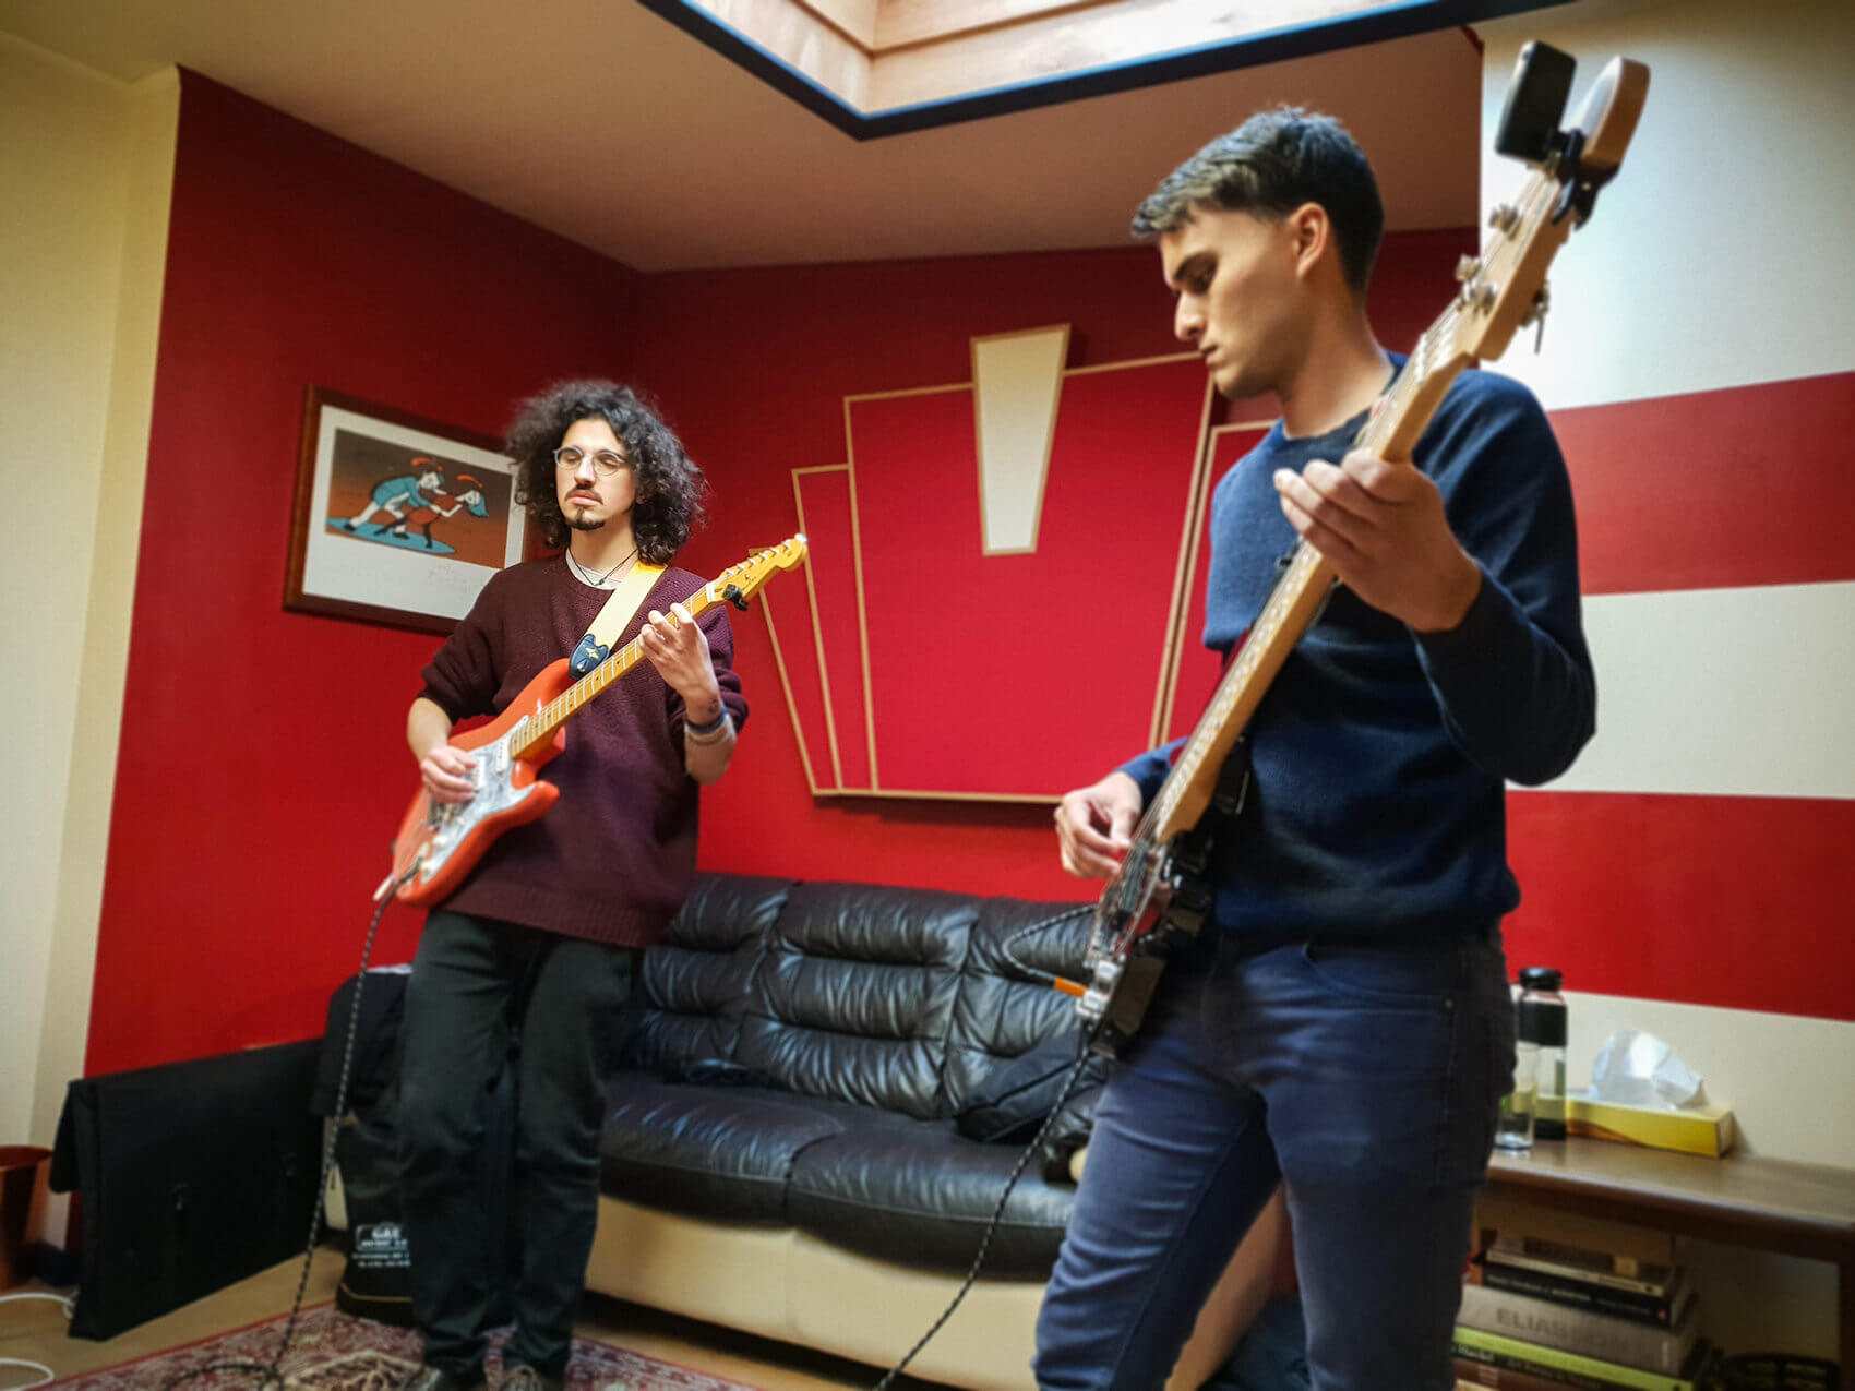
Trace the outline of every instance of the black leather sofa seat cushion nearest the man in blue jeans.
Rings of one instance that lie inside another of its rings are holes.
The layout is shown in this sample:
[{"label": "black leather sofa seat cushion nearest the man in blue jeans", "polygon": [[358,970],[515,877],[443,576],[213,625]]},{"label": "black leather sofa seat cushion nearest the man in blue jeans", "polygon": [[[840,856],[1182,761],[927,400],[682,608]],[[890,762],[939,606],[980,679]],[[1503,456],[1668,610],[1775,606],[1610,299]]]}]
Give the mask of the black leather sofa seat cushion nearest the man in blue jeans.
[{"label": "black leather sofa seat cushion nearest the man in blue jeans", "polygon": [[[965,1274],[998,1207],[1017,1146],[978,1144],[950,1120],[848,1126],[809,1144],[792,1165],[787,1213],[820,1241],[864,1256]],[[983,1274],[1046,1280],[1063,1243],[1074,1189],[1028,1165],[1011,1189]]]}]

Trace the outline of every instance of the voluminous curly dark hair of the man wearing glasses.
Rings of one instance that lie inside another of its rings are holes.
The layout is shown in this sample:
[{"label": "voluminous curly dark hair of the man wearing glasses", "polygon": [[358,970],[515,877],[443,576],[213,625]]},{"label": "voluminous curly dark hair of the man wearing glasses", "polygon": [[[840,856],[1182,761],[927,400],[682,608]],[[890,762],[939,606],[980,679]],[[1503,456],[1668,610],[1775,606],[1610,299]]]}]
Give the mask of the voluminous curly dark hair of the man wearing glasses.
[{"label": "voluminous curly dark hair of the man wearing glasses", "polygon": [[603,419],[625,447],[625,462],[638,484],[638,501],[631,508],[638,558],[668,566],[707,516],[703,499],[709,480],[659,417],[655,402],[629,386],[556,382],[521,402],[505,447],[516,460],[516,501],[529,508],[547,545],[568,543],[571,527],[555,490],[555,451],[575,421],[588,419]]}]

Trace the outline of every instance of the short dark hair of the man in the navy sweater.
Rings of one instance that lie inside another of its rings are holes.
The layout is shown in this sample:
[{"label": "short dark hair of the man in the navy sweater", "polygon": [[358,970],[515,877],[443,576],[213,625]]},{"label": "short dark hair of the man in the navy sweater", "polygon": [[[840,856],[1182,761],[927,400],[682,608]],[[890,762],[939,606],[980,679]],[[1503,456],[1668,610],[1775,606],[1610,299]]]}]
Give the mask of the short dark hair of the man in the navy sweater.
[{"label": "short dark hair of the man in the navy sweater", "polygon": [[1386,226],[1378,180],[1345,126],[1298,106],[1258,111],[1167,174],[1135,210],[1133,236],[1178,232],[1200,208],[1280,221],[1304,202],[1326,210],[1347,284],[1363,295]]}]

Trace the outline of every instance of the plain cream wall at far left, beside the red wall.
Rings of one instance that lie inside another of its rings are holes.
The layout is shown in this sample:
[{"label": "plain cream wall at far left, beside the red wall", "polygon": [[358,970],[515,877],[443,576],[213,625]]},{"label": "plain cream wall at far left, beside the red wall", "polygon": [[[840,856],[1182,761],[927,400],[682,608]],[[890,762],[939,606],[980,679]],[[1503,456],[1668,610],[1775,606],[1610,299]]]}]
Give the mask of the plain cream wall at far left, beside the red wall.
[{"label": "plain cream wall at far left, beside the red wall", "polygon": [[83,1066],[178,111],[0,33],[0,1142]]}]

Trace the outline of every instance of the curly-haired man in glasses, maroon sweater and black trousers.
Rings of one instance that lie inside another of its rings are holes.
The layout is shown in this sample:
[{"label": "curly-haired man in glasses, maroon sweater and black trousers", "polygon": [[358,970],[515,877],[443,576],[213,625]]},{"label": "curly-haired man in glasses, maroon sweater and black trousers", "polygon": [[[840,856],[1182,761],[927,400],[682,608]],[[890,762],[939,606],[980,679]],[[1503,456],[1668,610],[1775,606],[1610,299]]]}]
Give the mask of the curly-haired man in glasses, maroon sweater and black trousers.
[{"label": "curly-haired man in glasses, maroon sweater and black trousers", "polygon": [[633,568],[664,569],[605,644],[636,634],[649,666],[577,714],[547,766],[558,803],[497,838],[419,938],[399,1078],[419,1391],[484,1384],[484,1133],[510,1042],[521,1269],[503,1385],[566,1376],[597,1213],[608,1035],[638,951],[688,894],[697,785],[727,770],[748,714],[727,606],[692,621],[683,601],[703,581],[668,568],[705,491],[677,436],[629,388],[562,382],[523,406],[508,454],[516,499],[564,551],[493,575],[425,668],[406,740],[434,801],[475,796],[453,723],[501,712],[542,668],[584,649]]}]

